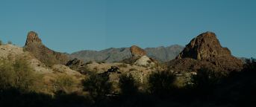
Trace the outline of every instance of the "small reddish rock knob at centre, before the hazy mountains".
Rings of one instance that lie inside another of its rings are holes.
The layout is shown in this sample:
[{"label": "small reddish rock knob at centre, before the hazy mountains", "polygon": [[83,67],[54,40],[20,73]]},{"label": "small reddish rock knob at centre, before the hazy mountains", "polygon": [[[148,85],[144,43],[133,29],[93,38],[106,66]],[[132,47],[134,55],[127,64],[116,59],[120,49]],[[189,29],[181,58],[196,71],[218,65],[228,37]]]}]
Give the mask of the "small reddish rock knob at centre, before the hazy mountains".
[{"label": "small reddish rock knob at centre, before the hazy mountains", "polygon": [[130,51],[133,57],[146,56],[146,51],[136,45],[131,46]]}]

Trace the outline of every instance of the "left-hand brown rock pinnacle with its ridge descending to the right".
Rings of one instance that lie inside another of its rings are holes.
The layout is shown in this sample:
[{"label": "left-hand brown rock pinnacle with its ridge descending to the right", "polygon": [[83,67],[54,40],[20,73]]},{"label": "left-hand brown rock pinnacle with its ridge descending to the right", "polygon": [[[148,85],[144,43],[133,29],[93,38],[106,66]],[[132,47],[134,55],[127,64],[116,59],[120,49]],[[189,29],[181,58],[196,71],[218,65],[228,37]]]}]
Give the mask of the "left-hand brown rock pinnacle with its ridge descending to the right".
[{"label": "left-hand brown rock pinnacle with its ridge descending to the right", "polygon": [[46,63],[46,65],[65,65],[68,61],[68,57],[65,54],[52,51],[43,45],[41,39],[34,31],[28,33],[24,49],[32,53],[41,62]]}]

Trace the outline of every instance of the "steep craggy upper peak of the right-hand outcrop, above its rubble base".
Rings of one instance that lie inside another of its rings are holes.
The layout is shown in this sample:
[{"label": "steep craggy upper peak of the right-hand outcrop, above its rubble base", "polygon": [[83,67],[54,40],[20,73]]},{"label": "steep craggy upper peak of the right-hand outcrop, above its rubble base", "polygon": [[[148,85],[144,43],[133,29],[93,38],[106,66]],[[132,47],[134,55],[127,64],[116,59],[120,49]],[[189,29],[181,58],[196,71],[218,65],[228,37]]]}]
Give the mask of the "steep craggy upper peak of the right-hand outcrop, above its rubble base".
[{"label": "steep craggy upper peak of the right-hand outcrop, above its rubble base", "polygon": [[231,56],[231,51],[228,48],[222,48],[215,33],[205,32],[192,39],[176,59],[192,58],[200,60],[223,56]]}]

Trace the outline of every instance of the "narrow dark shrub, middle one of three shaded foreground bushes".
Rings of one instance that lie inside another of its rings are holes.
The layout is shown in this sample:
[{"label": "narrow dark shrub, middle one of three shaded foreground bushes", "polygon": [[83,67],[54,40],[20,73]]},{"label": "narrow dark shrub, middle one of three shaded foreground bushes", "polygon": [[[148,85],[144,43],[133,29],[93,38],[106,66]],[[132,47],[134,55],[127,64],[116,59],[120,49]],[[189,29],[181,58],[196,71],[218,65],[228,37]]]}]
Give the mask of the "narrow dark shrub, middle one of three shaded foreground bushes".
[{"label": "narrow dark shrub, middle one of three shaded foreground bushes", "polygon": [[131,74],[122,74],[119,77],[119,88],[125,96],[137,94],[138,84]]}]

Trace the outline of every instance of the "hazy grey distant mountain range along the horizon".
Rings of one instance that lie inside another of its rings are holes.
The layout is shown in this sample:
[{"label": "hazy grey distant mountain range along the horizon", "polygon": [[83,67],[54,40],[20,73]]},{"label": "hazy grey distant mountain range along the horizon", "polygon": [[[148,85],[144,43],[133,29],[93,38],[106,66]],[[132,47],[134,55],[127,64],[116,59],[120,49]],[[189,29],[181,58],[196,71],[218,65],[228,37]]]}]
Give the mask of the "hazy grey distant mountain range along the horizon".
[{"label": "hazy grey distant mountain range along the horizon", "polygon": [[[158,48],[145,48],[147,56],[157,59],[160,62],[167,62],[175,59],[184,49],[181,45],[170,45],[168,47],[160,46]],[[78,58],[84,60],[84,62],[96,61],[96,62],[120,62],[123,59],[130,58],[130,48],[107,48],[102,51],[78,51],[69,54],[69,57]]]}]

